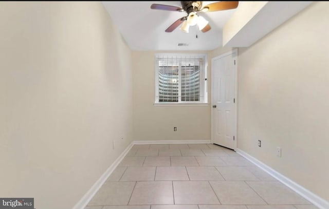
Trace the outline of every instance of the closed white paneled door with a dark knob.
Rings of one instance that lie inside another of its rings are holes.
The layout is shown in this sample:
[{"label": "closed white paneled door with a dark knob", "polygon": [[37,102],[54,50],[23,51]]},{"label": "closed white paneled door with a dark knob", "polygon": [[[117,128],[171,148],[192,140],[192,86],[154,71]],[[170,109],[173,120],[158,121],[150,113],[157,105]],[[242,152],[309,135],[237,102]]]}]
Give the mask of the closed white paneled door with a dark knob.
[{"label": "closed white paneled door with a dark knob", "polygon": [[212,59],[212,142],[236,148],[236,50]]}]

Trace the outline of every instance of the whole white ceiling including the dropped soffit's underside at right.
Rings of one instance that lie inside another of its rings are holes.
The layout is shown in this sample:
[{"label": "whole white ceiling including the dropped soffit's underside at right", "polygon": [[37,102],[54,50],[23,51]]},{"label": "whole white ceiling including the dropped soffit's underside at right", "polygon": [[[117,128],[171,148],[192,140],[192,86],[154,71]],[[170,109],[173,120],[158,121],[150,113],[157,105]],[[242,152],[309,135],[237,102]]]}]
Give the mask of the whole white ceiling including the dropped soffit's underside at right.
[{"label": "whole white ceiling including the dropped soffit's underside at right", "polygon": [[[179,27],[173,32],[165,32],[172,23],[186,16],[187,13],[154,10],[151,9],[151,5],[163,4],[181,7],[180,2],[102,3],[132,50],[213,50],[223,46],[222,37],[225,25],[239,26],[239,30],[233,33],[226,46],[246,47],[261,39],[312,2],[240,2],[236,9],[198,12],[198,15],[204,16],[211,26],[211,30],[206,33],[199,31],[197,26],[190,27],[189,33],[182,32]],[[211,3],[214,2],[203,2],[203,6]],[[252,4],[264,5],[264,3],[265,6],[258,13],[248,14],[254,8]],[[239,18],[235,18],[237,16]],[[229,23],[227,24],[227,22]],[[227,32],[225,29],[225,38],[230,33],[231,31]],[[189,46],[177,46],[178,43],[186,43]]]}]

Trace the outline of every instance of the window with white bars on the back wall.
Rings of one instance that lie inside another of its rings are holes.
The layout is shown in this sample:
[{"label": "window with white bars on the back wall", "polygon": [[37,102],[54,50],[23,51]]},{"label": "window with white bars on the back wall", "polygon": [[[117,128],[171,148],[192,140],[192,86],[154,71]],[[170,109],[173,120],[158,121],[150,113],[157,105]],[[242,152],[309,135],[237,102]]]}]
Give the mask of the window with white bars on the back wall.
[{"label": "window with white bars on the back wall", "polygon": [[205,54],[157,54],[155,103],[207,103],[206,58]]}]

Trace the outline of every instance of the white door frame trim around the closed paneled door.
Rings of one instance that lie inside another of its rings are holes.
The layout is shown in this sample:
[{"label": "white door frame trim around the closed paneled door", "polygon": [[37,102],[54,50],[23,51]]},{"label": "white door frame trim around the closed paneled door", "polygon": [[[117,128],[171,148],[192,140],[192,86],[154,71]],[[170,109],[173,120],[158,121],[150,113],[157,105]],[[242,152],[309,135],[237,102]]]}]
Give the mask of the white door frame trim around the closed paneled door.
[{"label": "white door frame trim around the closed paneled door", "polygon": [[227,55],[230,55],[230,54],[233,54],[235,53],[235,56],[233,56],[233,59],[235,60],[235,65],[234,65],[234,80],[235,80],[235,92],[234,92],[234,98],[235,98],[235,105],[234,105],[234,110],[235,110],[235,121],[234,121],[234,127],[233,127],[233,134],[234,134],[234,147],[235,149],[237,148],[237,104],[239,102],[239,100],[237,99],[237,89],[238,89],[238,86],[237,86],[237,49],[233,49],[233,50],[230,50],[224,54],[221,54],[219,56],[216,56],[214,58],[211,59],[211,103],[210,103],[210,108],[211,108],[211,143],[214,143],[214,123],[213,123],[213,120],[214,120],[214,110],[213,110],[213,99],[214,99],[214,82],[213,82],[213,78],[214,78],[214,68],[213,68],[213,62],[217,59],[221,59],[221,58],[224,58],[225,56]]}]

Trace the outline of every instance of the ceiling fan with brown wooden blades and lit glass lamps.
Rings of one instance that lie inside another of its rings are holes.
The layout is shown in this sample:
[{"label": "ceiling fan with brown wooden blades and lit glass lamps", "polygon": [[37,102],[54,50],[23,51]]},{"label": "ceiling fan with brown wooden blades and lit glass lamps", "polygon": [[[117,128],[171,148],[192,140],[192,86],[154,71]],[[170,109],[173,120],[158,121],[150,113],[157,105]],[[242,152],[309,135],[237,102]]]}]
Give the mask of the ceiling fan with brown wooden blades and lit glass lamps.
[{"label": "ceiling fan with brown wooden blades and lit glass lamps", "polygon": [[215,2],[208,4],[203,7],[202,2],[180,2],[181,8],[170,5],[152,4],[151,9],[167,10],[167,11],[178,11],[186,12],[187,16],[183,16],[175,21],[171,26],[166,29],[166,32],[172,32],[180,24],[180,29],[184,32],[189,32],[189,27],[197,25],[199,30],[207,32],[211,29],[208,21],[203,17],[197,15],[197,12],[215,12],[228,9],[235,9],[239,2]]}]

